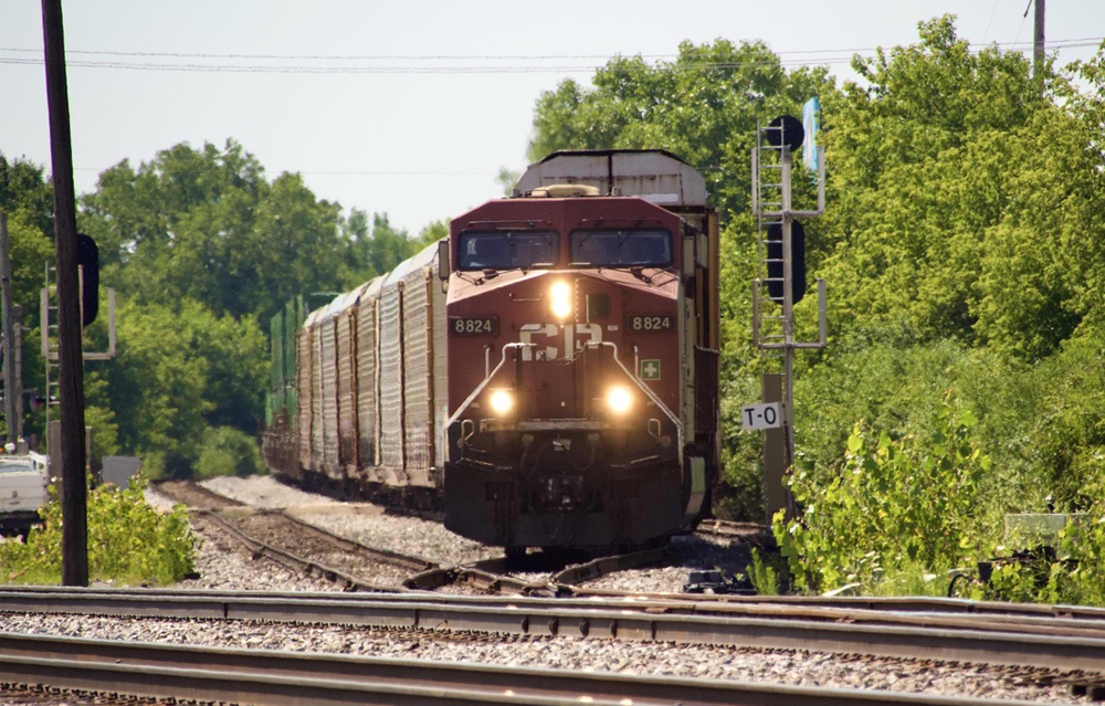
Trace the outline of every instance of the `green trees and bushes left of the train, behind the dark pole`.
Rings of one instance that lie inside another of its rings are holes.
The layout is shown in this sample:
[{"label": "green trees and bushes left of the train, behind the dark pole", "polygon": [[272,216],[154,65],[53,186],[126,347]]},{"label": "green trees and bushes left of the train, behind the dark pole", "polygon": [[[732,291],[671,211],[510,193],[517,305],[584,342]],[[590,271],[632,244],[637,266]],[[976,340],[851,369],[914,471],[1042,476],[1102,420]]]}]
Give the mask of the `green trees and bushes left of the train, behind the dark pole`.
[{"label": "green trees and bushes left of the train, behind the dark pole", "polygon": [[[53,214],[42,169],[0,156],[0,210],[9,214],[13,299],[24,304],[24,388],[44,393],[38,292],[53,259]],[[81,200],[78,228],[99,245],[101,283],[118,293],[117,355],[85,368],[93,456],[139,455],[152,478],[261,468],[266,322],[292,295],[344,291],[443,235],[421,240],[386,214],[318,200],[298,175],[265,178],[242,146],[177,145],[134,168],[123,161]],[[105,316],[88,347],[107,347]],[[44,411],[28,434],[41,440]]]}]

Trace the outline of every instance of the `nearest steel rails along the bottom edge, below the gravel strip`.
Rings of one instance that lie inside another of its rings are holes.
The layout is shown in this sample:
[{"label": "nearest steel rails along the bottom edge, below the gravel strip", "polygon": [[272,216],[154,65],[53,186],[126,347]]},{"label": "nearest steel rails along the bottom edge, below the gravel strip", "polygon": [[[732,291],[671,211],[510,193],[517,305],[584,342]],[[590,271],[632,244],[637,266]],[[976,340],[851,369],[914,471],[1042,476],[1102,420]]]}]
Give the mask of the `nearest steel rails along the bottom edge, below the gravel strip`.
[{"label": "nearest steel rails along the bottom edge, below the gravel strip", "polygon": [[3,657],[0,682],[246,704],[1011,706],[1027,703],[10,633],[0,633],[0,655]]}]

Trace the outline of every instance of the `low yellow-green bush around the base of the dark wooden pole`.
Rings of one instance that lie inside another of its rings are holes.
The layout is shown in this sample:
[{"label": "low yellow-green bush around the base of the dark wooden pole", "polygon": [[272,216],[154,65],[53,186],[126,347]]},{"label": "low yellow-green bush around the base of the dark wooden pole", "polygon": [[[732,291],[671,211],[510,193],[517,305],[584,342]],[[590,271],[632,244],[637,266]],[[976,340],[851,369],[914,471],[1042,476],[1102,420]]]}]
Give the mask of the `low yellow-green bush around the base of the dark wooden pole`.
[{"label": "low yellow-green bush around the base of the dark wooden pole", "polygon": [[[91,579],[165,586],[194,570],[198,540],[187,513],[182,506],[170,513],[150,507],[145,485],[146,480],[136,476],[126,488],[102,485],[88,494]],[[61,502],[50,502],[41,513],[44,523],[31,529],[25,542],[0,544],[0,582],[61,582]]]}]

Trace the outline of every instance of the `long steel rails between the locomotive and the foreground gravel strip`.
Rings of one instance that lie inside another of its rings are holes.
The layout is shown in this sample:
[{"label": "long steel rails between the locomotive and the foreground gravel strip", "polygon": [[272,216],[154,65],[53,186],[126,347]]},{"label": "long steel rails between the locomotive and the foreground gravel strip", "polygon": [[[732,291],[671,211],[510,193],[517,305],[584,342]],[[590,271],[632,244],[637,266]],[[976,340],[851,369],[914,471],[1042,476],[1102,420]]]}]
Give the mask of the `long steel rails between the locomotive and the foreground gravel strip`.
[{"label": "long steel rails between the locomotive and the foreground gravel strip", "polygon": [[[359,597],[276,601],[265,594],[202,592],[113,597],[94,591],[3,593],[3,612],[56,612],[159,618],[207,618],[270,622],[317,622],[385,629],[474,631],[504,635],[572,636],[804,650],[880,657],[941,660],[1051,670],[1105,672],[1105,639],[1025,634],[947,624],[780,620],[725,614],[680,614],[649,602],[620,608],[590,601],[519,598],[493,602],[396,600]],[[663,611],[663,612],[657,612]],[[993,628],[993,625],[990,625]]]}]

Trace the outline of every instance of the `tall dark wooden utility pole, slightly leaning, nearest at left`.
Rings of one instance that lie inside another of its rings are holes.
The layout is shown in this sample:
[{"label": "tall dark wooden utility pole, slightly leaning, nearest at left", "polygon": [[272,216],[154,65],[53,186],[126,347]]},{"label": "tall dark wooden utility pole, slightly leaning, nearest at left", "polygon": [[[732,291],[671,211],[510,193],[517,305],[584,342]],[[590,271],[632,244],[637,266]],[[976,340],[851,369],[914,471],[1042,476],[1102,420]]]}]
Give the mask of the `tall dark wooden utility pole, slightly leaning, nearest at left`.
[{"label": "tall dark wooden utility pole, slightly leaning, nearest at left", "polygon": [[61,0],[42,0],[50,154],[57,249],[59,398],[62,452],[62,584],[88,586],[88,484],[84,454],[84,360],[81,285],[76,267],[76,194],[70,141],[65,33]]}]

